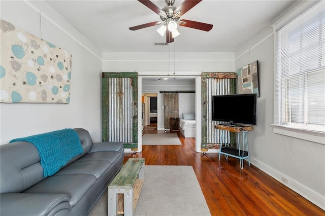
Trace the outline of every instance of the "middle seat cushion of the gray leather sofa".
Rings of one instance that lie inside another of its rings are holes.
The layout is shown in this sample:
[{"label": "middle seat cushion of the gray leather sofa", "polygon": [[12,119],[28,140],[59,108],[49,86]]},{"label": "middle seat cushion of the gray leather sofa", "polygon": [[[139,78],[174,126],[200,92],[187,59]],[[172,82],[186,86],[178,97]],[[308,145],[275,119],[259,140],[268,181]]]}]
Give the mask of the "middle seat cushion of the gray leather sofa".
[{"label": "middle seat cushion of the gray leather sofa", "polygon": [[55,175],[90,174],[99,179],[111,165],[111,162],[106,160],[77,160],[55,173]]}]

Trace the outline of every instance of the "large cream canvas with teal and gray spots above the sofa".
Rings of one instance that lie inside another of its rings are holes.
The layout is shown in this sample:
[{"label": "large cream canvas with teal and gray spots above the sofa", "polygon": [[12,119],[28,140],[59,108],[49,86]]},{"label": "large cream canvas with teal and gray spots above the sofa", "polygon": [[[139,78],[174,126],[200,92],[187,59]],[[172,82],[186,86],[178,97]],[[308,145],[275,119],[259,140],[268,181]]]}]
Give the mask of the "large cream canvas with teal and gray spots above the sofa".
[{"label": "large cream canvas with teal and gray spots above the sofa", "polygon": [[0,102],[69,103],[72,55],[0,20]]}]

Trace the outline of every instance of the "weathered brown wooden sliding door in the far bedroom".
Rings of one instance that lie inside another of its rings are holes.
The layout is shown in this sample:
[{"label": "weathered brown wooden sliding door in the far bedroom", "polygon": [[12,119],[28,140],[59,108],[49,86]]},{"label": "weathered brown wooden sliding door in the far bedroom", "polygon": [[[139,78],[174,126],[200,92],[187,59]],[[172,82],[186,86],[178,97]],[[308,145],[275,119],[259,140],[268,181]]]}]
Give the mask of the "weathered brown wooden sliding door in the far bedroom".
[{"label": "weathered brown wooden sliding door in the far bedroom", "polygon": [[178,93],[164,93],[165,129],[170,129],[170,118],[178,118]]}]

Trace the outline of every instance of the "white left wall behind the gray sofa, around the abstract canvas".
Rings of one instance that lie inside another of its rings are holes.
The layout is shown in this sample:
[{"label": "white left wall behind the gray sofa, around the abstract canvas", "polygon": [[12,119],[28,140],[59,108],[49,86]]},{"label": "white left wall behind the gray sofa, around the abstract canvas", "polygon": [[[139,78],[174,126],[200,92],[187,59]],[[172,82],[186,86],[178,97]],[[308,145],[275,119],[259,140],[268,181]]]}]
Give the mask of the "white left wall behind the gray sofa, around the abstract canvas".
[{"label": "white left wall behind the gray sofa, around the abstract canvas", "polygon": [[0,143],[63,128],[83,127],[101,141],[102,52],[45,1],[1,1],[1,19],[72,53],[69,104],[0,103]]}]

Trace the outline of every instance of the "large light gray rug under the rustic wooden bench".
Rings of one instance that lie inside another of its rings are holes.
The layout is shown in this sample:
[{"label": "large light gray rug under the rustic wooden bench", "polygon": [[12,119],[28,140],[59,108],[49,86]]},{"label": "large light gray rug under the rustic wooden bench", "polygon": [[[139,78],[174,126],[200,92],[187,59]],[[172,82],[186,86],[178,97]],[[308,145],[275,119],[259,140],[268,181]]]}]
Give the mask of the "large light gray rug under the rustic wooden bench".
[{"label": "large light gray rug under the rustic wooden bench", "polygon": [[[90,216],[107,215],[107,192]],[[135,215],[211,215],[191,166],[145,166]]]}]

